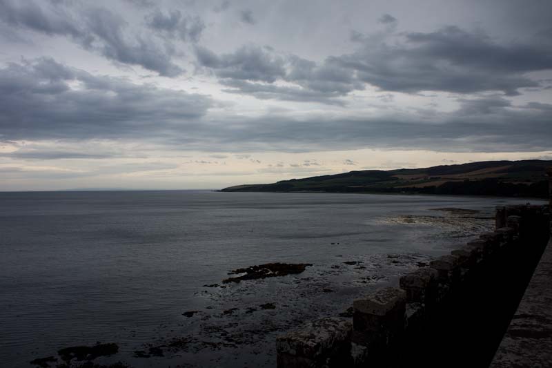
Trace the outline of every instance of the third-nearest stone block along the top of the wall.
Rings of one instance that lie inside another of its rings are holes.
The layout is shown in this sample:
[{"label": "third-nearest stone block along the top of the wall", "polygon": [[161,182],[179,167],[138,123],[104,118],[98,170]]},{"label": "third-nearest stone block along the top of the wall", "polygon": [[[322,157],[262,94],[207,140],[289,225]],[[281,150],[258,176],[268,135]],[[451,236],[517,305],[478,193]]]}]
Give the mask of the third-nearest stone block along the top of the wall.
[{"label": "third-nearest stone block along the top of the wall", "polygon": [[406,291],[407,302],[428,302],[435,294],[437,284],[437,270],[431,267],[421,267],[399,280],[401,289]]}]

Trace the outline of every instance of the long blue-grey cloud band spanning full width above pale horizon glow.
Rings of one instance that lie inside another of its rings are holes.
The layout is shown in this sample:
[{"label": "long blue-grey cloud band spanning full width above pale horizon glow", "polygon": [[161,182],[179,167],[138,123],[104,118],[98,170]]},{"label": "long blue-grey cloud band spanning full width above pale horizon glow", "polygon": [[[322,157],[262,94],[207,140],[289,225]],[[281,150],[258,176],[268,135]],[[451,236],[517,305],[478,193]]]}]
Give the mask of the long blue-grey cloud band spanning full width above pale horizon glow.
[{"label": "long blue-grey cloud band spanning full width above pale horizon glow", "polygon": [[[139,139],[167,149],[208,147],[225,152],[368,147],[533,151],[550,147],[551,106],[511,106],[501,97],[461,99],[460,108],[451,113],[392,111],[362,118],[321,114],[297,119],[273,113],[213,119],[206,115],[213,104],[201,95],[97,77],[52,59],[0,69],[3,141]],[[33,153],[27,152],[12,155],[30,158]],[[48,155],[63,158],[63,152]]]}]

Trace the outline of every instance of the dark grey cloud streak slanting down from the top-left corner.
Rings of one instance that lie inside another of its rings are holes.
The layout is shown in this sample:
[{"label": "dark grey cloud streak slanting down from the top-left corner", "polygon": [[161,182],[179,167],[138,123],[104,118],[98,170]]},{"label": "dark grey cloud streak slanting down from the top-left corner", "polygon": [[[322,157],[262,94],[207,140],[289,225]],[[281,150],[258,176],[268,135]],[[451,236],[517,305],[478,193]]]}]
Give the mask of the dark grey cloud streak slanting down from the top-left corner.
[{"label": "dark grey cloud streak slanting down from the top-left corner", "polygon": [[[40,5],[39,5],[40,4]],[[73,9],[66,3],[0,0],[0,20],[17,28],[49,36],[69,37],[82,48],[123,64],[139,65],[160,75],[175,77],[184,70],[172,62],[172,48],[149,37],[128,36],[127,22],[106,8]],[[188,35],[200,32],[192,25]]]}]

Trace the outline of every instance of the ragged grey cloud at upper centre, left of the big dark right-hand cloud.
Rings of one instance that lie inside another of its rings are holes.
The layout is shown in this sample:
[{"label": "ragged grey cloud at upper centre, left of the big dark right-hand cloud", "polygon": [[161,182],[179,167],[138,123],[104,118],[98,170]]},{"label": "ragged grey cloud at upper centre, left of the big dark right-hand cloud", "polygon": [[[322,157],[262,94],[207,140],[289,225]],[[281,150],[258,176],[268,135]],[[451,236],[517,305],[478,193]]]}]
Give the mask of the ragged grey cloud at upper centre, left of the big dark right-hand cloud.
[{"label": "ragged grey cloud at upper centre, left of the big dark right-hand cloud", "polygon": [[[196,55],[201,66],[214,70],[219,82],[231,88],[225,92],[252,95],[258,99],[344,105],[344,101],[337,97],[364,88],[364,84],[355,79],[354,70],[344,68],[334,58],[316,64],[295,55],[283,57],[269,48],[258,46],[244,46],[223,55],[198,46]],[[287,81],[293,85],[278,86],[275,81]]]}]

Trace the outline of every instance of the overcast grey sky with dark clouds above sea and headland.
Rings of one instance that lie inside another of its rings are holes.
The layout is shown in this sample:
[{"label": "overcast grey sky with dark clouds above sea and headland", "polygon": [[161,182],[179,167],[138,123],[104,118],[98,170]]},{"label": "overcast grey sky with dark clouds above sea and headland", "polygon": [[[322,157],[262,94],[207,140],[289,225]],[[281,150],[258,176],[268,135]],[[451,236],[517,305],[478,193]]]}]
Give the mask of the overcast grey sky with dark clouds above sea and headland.
[{"label": "overcast grey sky with dark clouds above sea and headland", "polygon": [[0,191],[552,159],[549,0],[0,0]]}]

